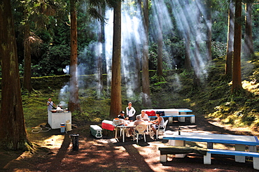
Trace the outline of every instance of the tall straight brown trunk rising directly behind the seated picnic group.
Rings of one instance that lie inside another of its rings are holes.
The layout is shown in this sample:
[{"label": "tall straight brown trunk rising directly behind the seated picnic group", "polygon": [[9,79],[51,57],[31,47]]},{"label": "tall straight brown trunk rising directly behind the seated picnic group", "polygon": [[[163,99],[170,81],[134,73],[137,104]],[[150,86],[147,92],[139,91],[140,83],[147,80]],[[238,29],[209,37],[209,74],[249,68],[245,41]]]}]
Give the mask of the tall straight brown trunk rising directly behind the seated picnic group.
[{"label": "tall straight brown trunk rising directly behind the seated picnic group", "polygon": [[113,6],[113,59],[111,66],[110,117],[117,117],[122,110],[121,98],[121,1]]}]

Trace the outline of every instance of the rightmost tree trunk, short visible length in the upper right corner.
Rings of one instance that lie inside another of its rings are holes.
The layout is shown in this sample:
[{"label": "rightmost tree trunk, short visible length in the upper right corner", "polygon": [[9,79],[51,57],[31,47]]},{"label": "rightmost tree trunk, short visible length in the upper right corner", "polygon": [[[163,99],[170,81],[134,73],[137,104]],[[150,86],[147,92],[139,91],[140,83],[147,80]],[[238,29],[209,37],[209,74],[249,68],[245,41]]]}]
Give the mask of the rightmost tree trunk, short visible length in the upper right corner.
[{"label": "rightmost tree trunk, short visible length in the upper right corner", "polygon": [[246,29],[244,36],[244,57],[251,58],[253,55],[253,35],[252,35],[252,3],[246,3]]}]

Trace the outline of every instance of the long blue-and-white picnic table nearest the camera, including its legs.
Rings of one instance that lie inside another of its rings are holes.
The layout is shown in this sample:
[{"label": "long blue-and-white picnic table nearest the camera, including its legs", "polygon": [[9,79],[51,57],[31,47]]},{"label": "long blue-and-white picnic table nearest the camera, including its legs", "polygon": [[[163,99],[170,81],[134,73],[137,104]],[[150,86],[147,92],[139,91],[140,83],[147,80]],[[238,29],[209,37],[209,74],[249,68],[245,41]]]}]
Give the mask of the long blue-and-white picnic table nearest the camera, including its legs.
[{"label": "long blue-and-white picnic table nearest the camera, including its legs", "polygon": [[[243,136],[231,134],[204,134],[191,132],[178,132],[172,134],[165,134],[163,139],[169,140],[169,145],[186,145],[186,141],[193,142],[207,142],[207,147],[212,149],[213,143],[225,143],[235,145],[235,150],[245,151],[248,145],[249,152],[257,152],[256,145],[259,145],[257,136]],[[177,157],[184,157],[185,155],[178,155]],[[245,157],[235,156],[236,162],[245,162]]]}]

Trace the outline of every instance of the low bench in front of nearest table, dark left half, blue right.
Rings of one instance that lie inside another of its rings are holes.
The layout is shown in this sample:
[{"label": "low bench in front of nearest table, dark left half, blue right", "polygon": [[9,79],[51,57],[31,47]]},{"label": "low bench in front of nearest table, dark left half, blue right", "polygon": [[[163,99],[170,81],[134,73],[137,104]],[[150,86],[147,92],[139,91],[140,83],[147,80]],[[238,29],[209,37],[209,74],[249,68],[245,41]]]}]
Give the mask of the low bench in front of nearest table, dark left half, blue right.
[{"label": "low bench in front of nearest table, dark left half, blue right", "polygon": [[165,146],[158,148],[160,150],[160,162],[167,162],[167,155],[197,153],[204,155],[204,164],[211,164],[211,154],[217,155],[233,155],[243,157],[253,157],[253,169],[259,170],[259,153],[245,152],[237,150],[215,150],[186,146]]}]

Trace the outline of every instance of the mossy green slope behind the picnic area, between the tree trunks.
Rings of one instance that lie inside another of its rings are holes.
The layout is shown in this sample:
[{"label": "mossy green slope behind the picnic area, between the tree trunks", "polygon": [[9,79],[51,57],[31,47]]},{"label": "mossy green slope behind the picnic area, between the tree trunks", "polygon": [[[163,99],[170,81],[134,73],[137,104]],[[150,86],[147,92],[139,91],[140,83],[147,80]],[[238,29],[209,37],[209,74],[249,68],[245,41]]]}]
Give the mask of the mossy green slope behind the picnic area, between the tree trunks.
[{"label": "mossy green slope behind the picnic area, between the tree trunks", "polygon": [[[202,78],[199,87],[193,87],[193,72],[191,71],[165,71],[163,77],[151,76],[151,99],[153,108],[190,108],[195,115],[204,115],[207,118],[218,120],[225,124],[239,126],[259,126],[259,62],[241,62],[242,80],[244,90],[239,94],[231,94],[231,80],[224,75],[225,58],[218,57],[207,66],[207,77]],[[91,83],[94,76],[82,76],[87,78],[85,85],[80,87],[79,99],[81,112],[72,114],[73,120],[80,122],[96,122],[109,119],[110,88],[105,88],[102,94]],[[43,85],[45,89],[38,89],[33,94],[22,95],[25,121],[27,127],[36,127],[48,121],[46,102],[48,97],[54,103],[59,103],[59,87],[65,82],[52,83],[55,87]],[[55,82],[55,79],[52,80]],[[37,78],[40,83],[40,78]],[[104,82],[106,83],[106,82]],[[37,86],[39,87],[39,86]],[[132,101],[133,107],[140,113],[144,107],[141,103],[141,94],[135,94],[127,98],[125,85],[122,88],[123,109]],[[118,112],[119,113],[119,112]]]}]

